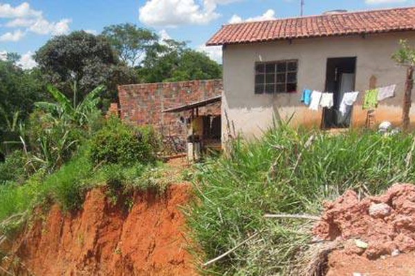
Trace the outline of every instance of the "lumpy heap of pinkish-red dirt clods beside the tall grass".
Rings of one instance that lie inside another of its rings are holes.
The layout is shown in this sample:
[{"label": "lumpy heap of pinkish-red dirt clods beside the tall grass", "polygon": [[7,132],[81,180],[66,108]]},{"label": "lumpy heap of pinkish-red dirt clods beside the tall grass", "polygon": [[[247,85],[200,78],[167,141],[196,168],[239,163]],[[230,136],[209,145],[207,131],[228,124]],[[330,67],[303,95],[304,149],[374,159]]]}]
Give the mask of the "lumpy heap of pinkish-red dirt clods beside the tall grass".
[{"label": "lumpy heap of pinkish-red dirt clods beside the tall grass", "polygon": [[313,232],[322,239],[355,239],[345,244],[345,250],[376,259],[415,250],[414,230],[415,186],[395,184],[378,197],[359,200],[355,192],[348,191],[326,203]]}]

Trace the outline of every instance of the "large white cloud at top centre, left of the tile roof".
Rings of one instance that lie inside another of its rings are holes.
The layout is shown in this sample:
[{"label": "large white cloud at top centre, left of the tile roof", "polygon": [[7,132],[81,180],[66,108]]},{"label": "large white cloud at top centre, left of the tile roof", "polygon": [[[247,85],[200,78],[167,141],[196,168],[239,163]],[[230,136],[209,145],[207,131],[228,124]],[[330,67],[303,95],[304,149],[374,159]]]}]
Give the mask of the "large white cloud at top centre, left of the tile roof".
[{"label": "large white cloud at top centre, left of the tile roof", "polygon": [[220,17],[218,5],[240,0],[148,0],[139,9],[139,19],[149,26],[176,27],[206,24]]}]

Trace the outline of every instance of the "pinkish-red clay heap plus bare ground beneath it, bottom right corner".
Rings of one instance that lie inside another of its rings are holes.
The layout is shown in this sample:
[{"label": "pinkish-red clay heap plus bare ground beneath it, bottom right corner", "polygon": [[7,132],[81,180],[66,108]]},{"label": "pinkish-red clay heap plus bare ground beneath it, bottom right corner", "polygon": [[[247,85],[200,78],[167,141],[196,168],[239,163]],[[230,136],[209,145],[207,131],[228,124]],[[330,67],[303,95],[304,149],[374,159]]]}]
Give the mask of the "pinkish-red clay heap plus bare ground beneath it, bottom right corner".
[{"label": "pinkish-red clay heap plus bare ground beneath it, bottom right corner", "polygon": [[313,233],[341,244],[329,255],[327,275],[415,275],[415,186],[395,184],[361,200],[347,191],[324,205]]}]

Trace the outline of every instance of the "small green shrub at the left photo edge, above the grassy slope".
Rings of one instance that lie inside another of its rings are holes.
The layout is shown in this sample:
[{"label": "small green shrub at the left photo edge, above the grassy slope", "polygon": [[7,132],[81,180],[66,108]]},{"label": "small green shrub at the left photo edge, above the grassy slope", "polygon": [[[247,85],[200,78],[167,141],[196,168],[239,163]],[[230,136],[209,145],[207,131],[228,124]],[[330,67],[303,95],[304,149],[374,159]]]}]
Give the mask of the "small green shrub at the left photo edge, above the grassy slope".
[{"label": "small green shrub at the left photo edge, above the grassy slope", "polygon": [[0,163],[0,184],[6,181],[22,184],[26,179],[26,156],[21,150],[15,150],[6,156],[6,160]]}]

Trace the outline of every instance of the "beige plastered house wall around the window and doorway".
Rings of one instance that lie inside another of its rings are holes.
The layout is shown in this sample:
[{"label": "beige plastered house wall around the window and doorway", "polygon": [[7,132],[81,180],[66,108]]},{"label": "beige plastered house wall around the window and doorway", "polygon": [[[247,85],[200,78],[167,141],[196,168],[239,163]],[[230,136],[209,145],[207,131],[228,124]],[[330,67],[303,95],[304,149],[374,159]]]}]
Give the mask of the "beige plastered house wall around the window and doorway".
[{"label": "beige plastered house wall around the window and doorway", "polygon": [[[324,90],[326,60],[331,57],[357,57],[356,90],[369,88],[372,75],[378,86],[397,84],[396,97],[380,103],[376,121],[388,120],[400,124],[405,84],[405,68],[391,60],[399,48],[399,39],[415,43],[414,32],[374,34],[367,37],[325,37],[297,39],[269,43],[228,45],[223,48],[223,109],[236,132],[245,137],[259,136],[273,124],[273,118],[288,120],[291,124],[320,127],[322,110],[308,110],[300,103],[304,88]],[[255,95],[255,62],[298,59],[297,93]],[[362,110],[362,95],[353,110],[352,126],[363,126],[366,111]],[[223,117],[223,120],[226,118]],[[415,107],[411,109],[415,122]],[[223,121],[223,135],[228,135]],[[233,127],[232,127],[233,128]],[[231,133],[233,130],[231,131]],[[225,138],[225,137],[223,137]]]}]

